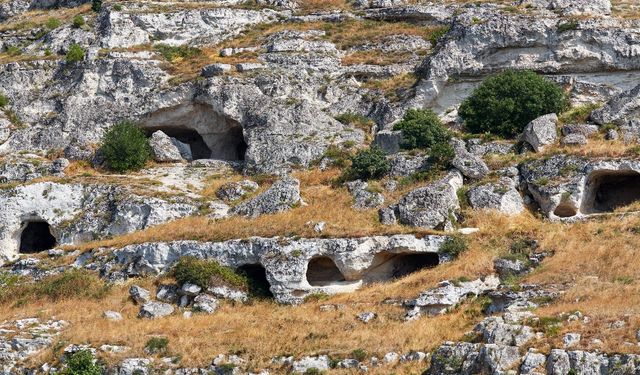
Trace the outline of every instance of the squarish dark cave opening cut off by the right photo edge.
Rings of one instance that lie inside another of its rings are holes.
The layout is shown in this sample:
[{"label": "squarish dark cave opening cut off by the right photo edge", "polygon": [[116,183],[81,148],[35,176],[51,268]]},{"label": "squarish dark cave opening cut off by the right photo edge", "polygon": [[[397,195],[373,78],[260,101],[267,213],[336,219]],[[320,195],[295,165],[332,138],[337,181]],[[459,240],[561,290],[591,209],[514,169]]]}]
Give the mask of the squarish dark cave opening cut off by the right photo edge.
[{"label": "squarish dark cave opening cut off by the right photo edge", "polygon": [[586,186],[583,213],[612,212],[640,200],[640,173],[595,171]]}]

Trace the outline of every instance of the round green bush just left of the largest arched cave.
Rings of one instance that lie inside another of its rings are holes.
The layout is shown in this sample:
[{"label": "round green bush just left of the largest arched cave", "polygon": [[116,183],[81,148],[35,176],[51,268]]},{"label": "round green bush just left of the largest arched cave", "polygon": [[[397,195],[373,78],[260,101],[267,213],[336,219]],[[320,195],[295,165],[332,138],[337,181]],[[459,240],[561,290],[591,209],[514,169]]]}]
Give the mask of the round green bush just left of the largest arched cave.
[{"label": "round green bush just left of the largest arched cave", "polygon": [[107,131],[102,152],[109,168],[117,172],[138,170],[151,158],[147,137],[130,121],[119,122]]}]

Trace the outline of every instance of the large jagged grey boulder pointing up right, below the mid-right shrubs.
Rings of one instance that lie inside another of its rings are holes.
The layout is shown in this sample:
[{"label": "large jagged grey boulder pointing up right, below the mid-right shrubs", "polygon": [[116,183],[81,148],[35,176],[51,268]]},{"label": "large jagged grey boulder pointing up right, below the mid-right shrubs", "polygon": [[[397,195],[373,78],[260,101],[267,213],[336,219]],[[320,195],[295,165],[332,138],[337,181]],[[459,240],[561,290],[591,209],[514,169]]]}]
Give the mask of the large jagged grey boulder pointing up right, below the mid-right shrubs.
[{"label": "large jagged grey boulder pointing up right, below the mid-right shrubs", "polygon": [[449,172],[442,179],[413,190],[393,206],[402,224],[427,229],[453,229],[455,213],[460,209],[458,189],[462,174]]}]

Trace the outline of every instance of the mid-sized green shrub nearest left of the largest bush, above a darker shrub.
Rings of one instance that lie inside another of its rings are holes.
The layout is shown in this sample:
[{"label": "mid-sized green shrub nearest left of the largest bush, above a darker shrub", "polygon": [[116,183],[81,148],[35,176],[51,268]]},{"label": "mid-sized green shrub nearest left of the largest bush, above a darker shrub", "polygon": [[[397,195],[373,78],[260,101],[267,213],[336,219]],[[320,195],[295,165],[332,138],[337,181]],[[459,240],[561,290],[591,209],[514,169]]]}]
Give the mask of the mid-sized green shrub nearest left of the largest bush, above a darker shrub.
[{"label": "mid-sized green shrub nearest left of the largest bush, above a darker shrub", "polygon": [[402,130],[401,147],[405,150],[429,149],[451,139],[451,132],[430,109],[408,110],[393,130]]}]

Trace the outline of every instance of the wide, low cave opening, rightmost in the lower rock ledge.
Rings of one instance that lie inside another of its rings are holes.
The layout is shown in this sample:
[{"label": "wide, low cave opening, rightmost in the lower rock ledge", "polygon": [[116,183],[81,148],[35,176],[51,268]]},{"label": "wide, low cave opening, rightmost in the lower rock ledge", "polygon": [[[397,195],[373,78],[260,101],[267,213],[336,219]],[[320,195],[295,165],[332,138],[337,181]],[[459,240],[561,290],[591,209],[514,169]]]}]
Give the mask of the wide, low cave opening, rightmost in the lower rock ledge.
[{"label": "wide, low cave opening, rightmost in the lower rock ledge", "polygon": [[438,253],[393,254],[381,252],[373,257],[371,266],[364,275],[366,282],[379,282],[399,279],[440,263]]}]

